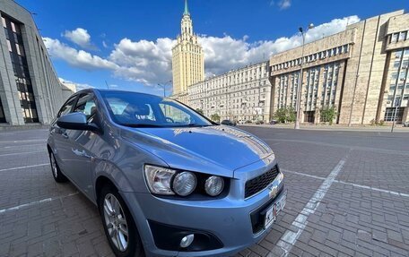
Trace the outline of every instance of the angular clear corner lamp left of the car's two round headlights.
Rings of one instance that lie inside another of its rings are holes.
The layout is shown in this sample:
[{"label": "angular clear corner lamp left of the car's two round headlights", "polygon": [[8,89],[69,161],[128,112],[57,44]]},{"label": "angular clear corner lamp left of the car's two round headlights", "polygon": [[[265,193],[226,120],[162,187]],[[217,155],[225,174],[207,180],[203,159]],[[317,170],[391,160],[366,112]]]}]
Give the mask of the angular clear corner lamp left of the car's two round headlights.
[{"label": "angular clear corner lamp left of the car's two round headlights", "polygon": [[148,184],[149,190],[156,194],[175,194],[170,188],[170,181],[175,173],[176,170],[166,167],[156,167],[151,165],[144,166],[146,184]]}]

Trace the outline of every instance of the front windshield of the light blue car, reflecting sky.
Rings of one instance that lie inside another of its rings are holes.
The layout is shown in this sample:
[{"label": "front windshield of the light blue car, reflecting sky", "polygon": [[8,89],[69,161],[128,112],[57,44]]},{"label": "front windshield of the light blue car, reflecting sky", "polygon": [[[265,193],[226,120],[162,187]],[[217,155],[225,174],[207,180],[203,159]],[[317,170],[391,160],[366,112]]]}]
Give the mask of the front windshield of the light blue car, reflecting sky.
[{"label": "front windshield of the light blue car, reflecting sky", "polygon": [[123,91],[101,91],[109,115],[130,127],[210,126],[211,121],[172,99]]}]

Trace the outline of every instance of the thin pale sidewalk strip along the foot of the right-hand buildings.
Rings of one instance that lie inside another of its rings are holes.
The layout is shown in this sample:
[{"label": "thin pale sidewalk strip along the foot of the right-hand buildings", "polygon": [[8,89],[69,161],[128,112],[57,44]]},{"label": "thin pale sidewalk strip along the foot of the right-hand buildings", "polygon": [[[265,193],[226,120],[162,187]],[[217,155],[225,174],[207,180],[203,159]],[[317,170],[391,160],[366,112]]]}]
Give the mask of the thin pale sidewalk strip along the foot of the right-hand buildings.
[{"label": "thin pale sidewalk strip along the foot of the right-hand buildings", "polygon": [[[277,129],[293,129],[294,124],[239,124],[239,126],[255,126]],[[354,132],[384,132],[390,133],[391,125],[352,125],[348,127],[344,124],[300,124],[301,130],[322,130],[322,131],[354,131]],[[409,133],[409,127],[404,127],[402,124],[397,124],[394,128],[394,133]]]}]

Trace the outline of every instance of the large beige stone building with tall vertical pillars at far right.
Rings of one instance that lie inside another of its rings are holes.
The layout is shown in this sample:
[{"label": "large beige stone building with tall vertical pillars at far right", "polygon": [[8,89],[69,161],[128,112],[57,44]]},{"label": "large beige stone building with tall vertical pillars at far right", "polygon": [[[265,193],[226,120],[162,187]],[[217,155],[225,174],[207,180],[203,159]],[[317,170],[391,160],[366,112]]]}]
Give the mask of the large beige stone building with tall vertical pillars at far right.
[{"label": "large beige stone building with tall vertical pillars at far right", "polygon": [[403,10],[351,24],[305,45],[302,76],[302,47],[271,56],[272,113],[296,107],[301,85],[301,122],[318,124],[326,107],[338,124],[408,121],[408,34]]}]

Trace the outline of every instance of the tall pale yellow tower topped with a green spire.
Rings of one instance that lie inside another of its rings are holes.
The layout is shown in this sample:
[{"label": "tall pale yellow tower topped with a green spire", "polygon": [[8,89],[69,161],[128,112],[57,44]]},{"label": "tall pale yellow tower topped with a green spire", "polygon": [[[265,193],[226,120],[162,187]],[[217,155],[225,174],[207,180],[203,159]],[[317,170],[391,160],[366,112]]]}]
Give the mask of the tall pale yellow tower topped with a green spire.
[{"label": "tall pale yellow tower topped with a green spire", "polygon": [[204,80],[204,53],[193,32],[193,22],[185,0],[178,44],[172,48],[173,95],[187,92],[187,87]]}]

